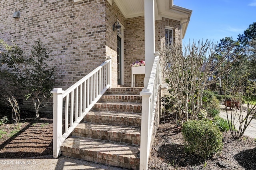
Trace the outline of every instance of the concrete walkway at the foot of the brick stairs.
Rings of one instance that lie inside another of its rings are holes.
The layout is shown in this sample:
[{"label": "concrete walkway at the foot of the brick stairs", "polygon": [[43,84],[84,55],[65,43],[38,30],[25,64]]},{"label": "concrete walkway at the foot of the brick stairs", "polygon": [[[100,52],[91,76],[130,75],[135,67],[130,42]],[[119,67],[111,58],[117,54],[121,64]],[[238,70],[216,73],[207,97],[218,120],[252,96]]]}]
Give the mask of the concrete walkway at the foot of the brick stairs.
[{"label": "concrete walkway at the foot of the brick stairs", "polygon": [[38,156],[24,159],[0,159],[0,170],[126,170],[94,162],[60,156]]}]

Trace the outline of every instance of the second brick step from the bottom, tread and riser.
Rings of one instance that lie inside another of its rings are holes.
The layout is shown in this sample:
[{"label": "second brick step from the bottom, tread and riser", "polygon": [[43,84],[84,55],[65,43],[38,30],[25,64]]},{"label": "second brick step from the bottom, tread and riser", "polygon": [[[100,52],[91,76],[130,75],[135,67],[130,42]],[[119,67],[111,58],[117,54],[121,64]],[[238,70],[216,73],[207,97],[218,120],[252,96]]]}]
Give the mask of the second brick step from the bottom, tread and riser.
[{"label": "second brick step from the bottom, tread and riser", "polygon": [[74,129],[72,136],[140,145],[140,128],[124,125],[83,122]]}]

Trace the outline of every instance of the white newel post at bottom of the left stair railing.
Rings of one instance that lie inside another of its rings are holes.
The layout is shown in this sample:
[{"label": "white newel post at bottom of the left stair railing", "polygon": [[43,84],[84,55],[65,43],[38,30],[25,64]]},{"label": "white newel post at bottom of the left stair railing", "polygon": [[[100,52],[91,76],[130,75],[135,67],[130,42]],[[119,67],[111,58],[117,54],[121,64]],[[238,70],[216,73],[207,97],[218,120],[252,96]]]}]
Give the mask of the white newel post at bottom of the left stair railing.
[{"label": "white newel post at bottom of the left stair railing", "polygon": [[60,155],[62,144],[62,88],[54,88],[53,94],[53,157]]}]

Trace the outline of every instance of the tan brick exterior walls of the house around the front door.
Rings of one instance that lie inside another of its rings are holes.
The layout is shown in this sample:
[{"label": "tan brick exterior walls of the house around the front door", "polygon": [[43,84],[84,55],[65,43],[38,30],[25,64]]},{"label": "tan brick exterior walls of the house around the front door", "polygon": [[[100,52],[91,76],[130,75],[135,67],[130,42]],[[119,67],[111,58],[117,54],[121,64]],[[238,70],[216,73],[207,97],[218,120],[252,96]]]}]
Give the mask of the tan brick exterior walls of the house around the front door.
[{"label": "tan brick exterior walls of the house around the front door", "polygon": [[[144,60],[144,16],[125,19],[114,1],[106,0],[12,0],[0,1],[0,38],[24,47],[41,40],[56,65],[56,84],[64,90],[112,56],[112,87],[117,87],[117,34],[112,25],[124,26],[124,85],[131,86],[130,64]],[[20,11],[20,18],[12,14]],[[179,40],[180,23],[163,18],[156,21],[156,45],[164,38],[164,27],[174,27]],[[144,75],[136,75],[143,87]],[[26,101],[24,101],[26,103]],[[51,105],[46,111],[51,110]]]}]

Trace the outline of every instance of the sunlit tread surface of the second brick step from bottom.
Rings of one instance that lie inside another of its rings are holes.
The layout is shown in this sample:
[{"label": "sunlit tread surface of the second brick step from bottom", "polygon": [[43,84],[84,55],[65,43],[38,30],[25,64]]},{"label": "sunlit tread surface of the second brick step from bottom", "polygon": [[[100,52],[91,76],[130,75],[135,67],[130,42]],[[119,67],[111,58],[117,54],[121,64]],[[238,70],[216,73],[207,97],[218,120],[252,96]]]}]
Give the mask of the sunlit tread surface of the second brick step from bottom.
[{"label": "sunlit tread surface of the second brick step from bottom", "polygon": [[109,132],[122,132],[129,134],[140,134],[140,127],[132,127],[126,125],[111,125],[111,124],[103,124],[103,123],[90,123],[90,122],[82,122],[77,125],[76,128],[82,129],[91,129],[91,130],[103,130]]}]

